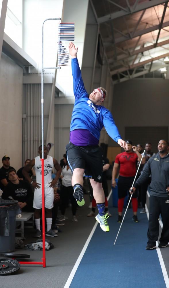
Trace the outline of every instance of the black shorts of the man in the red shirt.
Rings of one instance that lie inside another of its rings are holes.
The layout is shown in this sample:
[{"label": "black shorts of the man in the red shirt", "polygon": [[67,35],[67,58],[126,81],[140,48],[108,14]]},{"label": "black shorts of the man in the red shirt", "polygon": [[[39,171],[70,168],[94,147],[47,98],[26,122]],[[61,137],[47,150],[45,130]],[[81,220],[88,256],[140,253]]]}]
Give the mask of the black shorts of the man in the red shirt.
[{"label": "black shorts of the man in the red shirt", "polygon": [[[135,176],[134,177],[119,176],[118,182],[117,182],[119,199],[124,198],[127,195],[131,196],[129,189],[132,186],[134,179],[135,179]],[[132,198],[137,198],[137,190],[135,193],[132,194]]]}]

